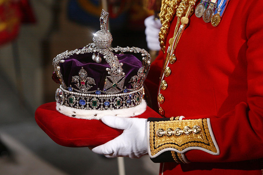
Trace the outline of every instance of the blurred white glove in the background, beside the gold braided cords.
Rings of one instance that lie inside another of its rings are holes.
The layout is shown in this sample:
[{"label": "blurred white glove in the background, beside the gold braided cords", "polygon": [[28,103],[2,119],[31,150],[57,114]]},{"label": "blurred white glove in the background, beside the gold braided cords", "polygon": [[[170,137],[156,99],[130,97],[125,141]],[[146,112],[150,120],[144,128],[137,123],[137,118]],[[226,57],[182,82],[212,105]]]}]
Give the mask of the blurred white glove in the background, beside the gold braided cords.
[{"label": "blurred white glove in the background, beside the gold braided cords", "polygon": [[159,32],[162,27],[160,20],[155,20],[154,15],[144,20],[147,47],[150,50],[160,50]]}]

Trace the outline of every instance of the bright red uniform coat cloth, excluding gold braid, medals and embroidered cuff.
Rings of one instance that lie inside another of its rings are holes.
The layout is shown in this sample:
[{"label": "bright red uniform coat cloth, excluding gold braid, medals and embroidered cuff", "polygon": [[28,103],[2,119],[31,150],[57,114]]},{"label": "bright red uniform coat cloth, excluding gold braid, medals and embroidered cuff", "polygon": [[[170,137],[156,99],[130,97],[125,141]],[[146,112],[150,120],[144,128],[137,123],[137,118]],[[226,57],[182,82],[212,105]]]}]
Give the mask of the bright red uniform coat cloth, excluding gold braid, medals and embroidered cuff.
[{"label": "bright red uniform coat cloth, excluding gold braid, medals and embroidered cuff", "polygon": [[[191,163],[164,163],[160,173],[262,174],[255,160],[263,157],[262,7],[257,0],[230,1],[217,27],[190,17],[174,53],[177,61],[168,65],[171,75],[164,78],[168,87],[160,90],[165,98],[160,106],[166,118],[210,118],[220,154],[189,150]],[[165,56],[160,52],[146,81],[156,91]]]}]

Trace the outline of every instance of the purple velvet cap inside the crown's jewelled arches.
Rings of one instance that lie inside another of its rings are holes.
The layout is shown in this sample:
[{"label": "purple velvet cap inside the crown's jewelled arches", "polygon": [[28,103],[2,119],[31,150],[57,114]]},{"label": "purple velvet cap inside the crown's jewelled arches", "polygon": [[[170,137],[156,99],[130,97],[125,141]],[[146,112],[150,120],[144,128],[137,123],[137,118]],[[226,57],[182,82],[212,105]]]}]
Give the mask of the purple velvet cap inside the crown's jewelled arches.
[{"label": "purple velvet cap inside the crown's jewelled arches", "polygon": [[[83,67],[83,69],[88,73],[87,77],[91,77],[95,80],[96,85],[91,85],[92,88],[90,88],[89,91],[94,91],[98,88],[101,91],[103,90],[105,78],[106,76],[110,76],[108,71],[106,71],[106,68],[110,68],[110,66],[103,58],[103,55],[100,55],[102,58],[101,63],[93,61],[92,55],[93,53],[84,53],[79,55],[73,54],[64,59],[65,62],[60,63],[61,74],[67,87],[71,85],[73,88],[77,89],[75,83],[71,82],[72,77],[78,76],[80,69]],[[138,70],[142,67],[141,61],[132,54],[114,55],[117,55],[119,62],[123,63],[122,69],[125,73],[124,87],[126,86],[128,89],[132,88],[131,83],[128,82],[131,77],[137,75]]]}]

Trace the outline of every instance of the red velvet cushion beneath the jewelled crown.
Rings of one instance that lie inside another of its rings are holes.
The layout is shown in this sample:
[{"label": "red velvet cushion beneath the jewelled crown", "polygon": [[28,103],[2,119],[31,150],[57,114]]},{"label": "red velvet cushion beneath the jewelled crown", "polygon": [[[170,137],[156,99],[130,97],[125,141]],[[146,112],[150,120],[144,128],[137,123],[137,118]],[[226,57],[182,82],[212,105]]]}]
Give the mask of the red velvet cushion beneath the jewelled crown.
[{"label": "red velvet cushion beneath the jewelled crown", "polygon": [[[160,117],[147,106],[137,118]],[[101,120],[85,120],[65,116],[56,110],[56,102],[39,106],[37,124],[56,143],[68,147],[98,146],[119,136],[123,130],[105,125]]]}]

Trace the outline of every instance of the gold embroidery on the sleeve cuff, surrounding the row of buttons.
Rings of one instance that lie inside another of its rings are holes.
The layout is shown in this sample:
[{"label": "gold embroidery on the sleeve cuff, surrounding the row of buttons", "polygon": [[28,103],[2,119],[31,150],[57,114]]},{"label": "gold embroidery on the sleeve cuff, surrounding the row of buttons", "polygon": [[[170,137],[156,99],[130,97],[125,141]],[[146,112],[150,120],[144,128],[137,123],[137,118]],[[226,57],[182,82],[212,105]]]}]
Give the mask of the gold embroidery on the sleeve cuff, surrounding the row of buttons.
[{"label": "gold embroidery on the sleeve cuff, surrounding the row of buttons", "polygon": [[[159,128],[184,128],[185,126],[193,127],[198,125],[201,128],[199,134],[182,134],[180,136],[162,136],[158,137],[156,131]],[[212,137],[210,135],[207,119],[196,119],[196,120],[173,120],[173,121],[159,121],[159,122],[150,122],[150,150],[151,155],[155,155],[160,150],[165,148],[175,148],[179,151],[184,150],[185,148],[197,146],[202,147],[207,150],[210,150],[214,153],[217,152],[217,149],[214,146]]]}]

